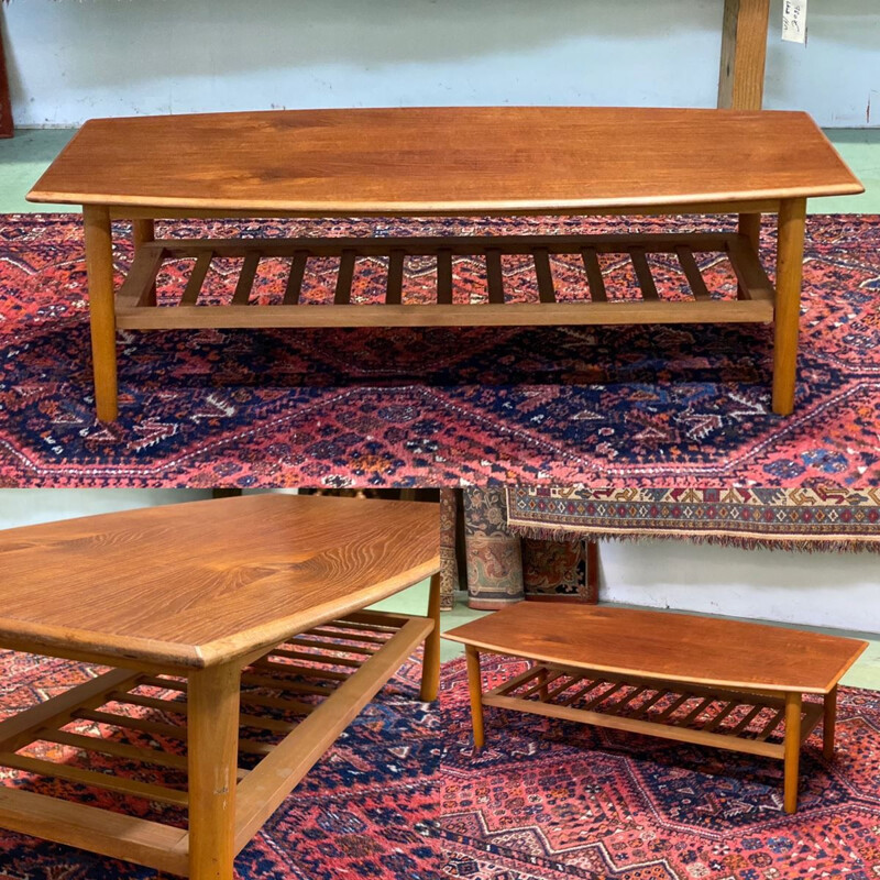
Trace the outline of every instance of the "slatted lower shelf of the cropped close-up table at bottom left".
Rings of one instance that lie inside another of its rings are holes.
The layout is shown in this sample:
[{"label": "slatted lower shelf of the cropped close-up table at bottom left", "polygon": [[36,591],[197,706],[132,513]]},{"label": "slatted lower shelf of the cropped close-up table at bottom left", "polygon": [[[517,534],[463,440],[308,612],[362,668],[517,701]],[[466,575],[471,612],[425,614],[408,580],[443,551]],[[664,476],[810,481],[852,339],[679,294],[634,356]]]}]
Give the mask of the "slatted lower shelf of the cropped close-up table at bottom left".
[{"label": "slatted lower shelf of the cropped close-up table at bottom left", "polygon": [[[358,612],[289,639],[243,670],[235,851],[432,626],[424,617]],[[30,778],[0,785],[0,827],[186,876],[186,697],[178,674],[116,669],[0,723],[0,767]],[[33,754],[36,744],[41,752],[68,751],[52,760]],[[74,754],[82,759],[70,762]],[[176,779],[145,782],[139,772]],[[40,793],[40,778],[62,784],[65,798]],[[77,802],[82,789],[145,801],[154,817]]]}]

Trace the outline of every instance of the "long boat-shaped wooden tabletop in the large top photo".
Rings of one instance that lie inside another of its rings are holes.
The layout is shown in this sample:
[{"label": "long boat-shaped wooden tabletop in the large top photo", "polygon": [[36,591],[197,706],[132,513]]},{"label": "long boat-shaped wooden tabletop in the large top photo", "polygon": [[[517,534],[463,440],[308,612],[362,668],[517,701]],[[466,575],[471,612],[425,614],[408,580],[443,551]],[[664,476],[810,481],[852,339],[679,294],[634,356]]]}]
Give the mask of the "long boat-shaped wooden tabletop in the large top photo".
[{"label": "long boat-shaped wooden tabletop in the large top photo", "polygon": [[805,113],[492,107],[96,119],[28,198],[330,216],[861,191]]}]

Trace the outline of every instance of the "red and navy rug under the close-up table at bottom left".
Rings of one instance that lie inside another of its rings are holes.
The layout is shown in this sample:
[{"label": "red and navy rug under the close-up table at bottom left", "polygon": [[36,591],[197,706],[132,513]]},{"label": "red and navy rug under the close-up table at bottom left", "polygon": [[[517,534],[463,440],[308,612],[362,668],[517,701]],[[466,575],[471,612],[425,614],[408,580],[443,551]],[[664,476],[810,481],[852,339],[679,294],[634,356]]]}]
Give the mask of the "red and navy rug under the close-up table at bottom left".
[{"label": "red and navy rug under the close-up table at bottom left", "polygon": [[[0,711],[7,716],[94,676],[97,668],[2,651],[0,671]],[[419,702],[420,674],[420,660],[415,657],[352,722],[242,850],[235,861],[238,880],[439,880],[441,853],[426,823],[437,816],[442,732],[437,704]],[[78,724],[90,735],[100,733],[97,725],[90,729],[89,722]],[[102,735],[112,735],[108,733],[112,729],[105,728]],[[44,749],[37,752],[44,757],[62,757],[48,756],[46,750],[63,747],[41,744],[37,748]],[[90,767],[102,769],[96,761]],[[139,772],[143,779],[143,766]],[[179,782],[163,776],[173,776],[174,770],[155,773],[151,781]],[[26,785],[51,795],[69,791],[64,789],[69,783],[32,780],[0,770],[0,784]],[[144,815],[146,802],[139,799],[87,789],[77,793],[108,809]],[[147,804],[146,809],[161,806]],[[156,872],[0,831],[0,877],[153,880]]]}]

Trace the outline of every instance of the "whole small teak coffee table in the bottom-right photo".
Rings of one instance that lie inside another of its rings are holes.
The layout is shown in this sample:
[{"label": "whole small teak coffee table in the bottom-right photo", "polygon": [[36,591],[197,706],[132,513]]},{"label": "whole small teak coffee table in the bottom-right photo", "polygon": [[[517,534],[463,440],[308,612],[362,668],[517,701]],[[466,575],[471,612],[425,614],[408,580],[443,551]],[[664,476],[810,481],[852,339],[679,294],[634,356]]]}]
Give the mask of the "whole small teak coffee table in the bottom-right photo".
[{"label": "whole small teak coffee table in the bottom-right photo", "polygon": [[[483,706],[499,706],[780,758],[787,813],[798,809],[801,746],[820,722],[824,756],[834,756],[837,682],[867,645],[688,614],[525,602],[444,638],[465,646],[476,748]],[[484,693],[481,653],[534,662]]]}]

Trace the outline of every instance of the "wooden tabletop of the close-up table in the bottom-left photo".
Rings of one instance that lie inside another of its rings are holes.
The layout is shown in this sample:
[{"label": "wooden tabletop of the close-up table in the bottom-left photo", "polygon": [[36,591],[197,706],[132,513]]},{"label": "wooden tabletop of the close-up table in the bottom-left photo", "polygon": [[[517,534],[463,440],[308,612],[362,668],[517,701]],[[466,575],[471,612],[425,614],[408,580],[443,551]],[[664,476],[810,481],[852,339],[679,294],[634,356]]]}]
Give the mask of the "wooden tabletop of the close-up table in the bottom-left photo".
[{"label": "wooden tabletop of the close-up table in the bottom-left photo", "polygon": [[0,647],[231,659],[440,569],[437,505],[256,495],[0,531]]}]

